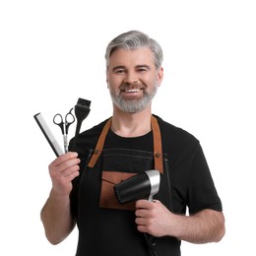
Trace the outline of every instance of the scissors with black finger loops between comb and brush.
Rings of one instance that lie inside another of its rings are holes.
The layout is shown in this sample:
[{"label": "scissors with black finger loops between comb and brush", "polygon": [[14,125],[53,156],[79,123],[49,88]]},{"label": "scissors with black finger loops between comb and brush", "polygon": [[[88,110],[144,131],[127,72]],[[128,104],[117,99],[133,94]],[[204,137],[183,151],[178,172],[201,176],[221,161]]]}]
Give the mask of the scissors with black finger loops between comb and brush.
[{"label": "scissors with black finger loops between comb and brush", "polygon": [[72,109],[65,115],[65,122],[61,114],[55,114],[53,117],[53,123],[58,125],[61,129],[64,141],[64,152],[68,152],[68,129],[69,126],[75,122],[75,116],[72,114]]}]

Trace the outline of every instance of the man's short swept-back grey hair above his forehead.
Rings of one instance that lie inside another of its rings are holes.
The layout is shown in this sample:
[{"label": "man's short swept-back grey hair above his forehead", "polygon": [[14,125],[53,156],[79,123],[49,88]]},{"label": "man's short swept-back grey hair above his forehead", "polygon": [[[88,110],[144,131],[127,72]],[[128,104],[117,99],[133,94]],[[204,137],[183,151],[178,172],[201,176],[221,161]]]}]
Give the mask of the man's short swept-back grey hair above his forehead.
[{"label": "man's short swept-back grey hair above his forehead", "polygon": [[163,58],[160,43],[148,34],[139,31],[121,33],[108,43],[105,50],[106,68],[109,65],[109,57],[116,49],[134,50],[141,47],[149,47],[152,50],[156,68],[160,69]]}]

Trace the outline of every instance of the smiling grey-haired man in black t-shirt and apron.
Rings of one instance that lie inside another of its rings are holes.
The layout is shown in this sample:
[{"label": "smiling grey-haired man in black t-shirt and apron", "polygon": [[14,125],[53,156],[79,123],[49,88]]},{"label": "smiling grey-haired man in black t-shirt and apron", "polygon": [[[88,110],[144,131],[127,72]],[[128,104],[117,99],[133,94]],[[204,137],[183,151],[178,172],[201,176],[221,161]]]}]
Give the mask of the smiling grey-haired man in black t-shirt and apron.
[{"label": "smiling grey-haired man in black t-shirt and apron", "polygon": [[[181,240],[220,241],[222,203],[199,141],[152,114],[163,77],[160,44],[125,32],[108,44],[105,59],[113,115],[49,164],[46,237],[57,244],[77,224],[77,256],[177,256]],[[113,185],[149,169],[160,171],[155,200],[118,204]]]}]

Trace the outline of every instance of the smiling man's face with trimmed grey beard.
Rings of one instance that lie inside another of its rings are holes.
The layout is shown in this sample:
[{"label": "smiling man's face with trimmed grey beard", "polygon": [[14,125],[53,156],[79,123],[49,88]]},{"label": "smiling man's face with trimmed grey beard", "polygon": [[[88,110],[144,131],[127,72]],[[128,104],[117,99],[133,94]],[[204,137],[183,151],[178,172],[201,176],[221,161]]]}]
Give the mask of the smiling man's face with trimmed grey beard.
[{"label": "smiling man's face with trimmed grey beard", "polygon": [[135,113],[150,105],[162,80],[154,55],[147,47],[136,50],[115,50],[106,71],[110,96],[119,109]]}]

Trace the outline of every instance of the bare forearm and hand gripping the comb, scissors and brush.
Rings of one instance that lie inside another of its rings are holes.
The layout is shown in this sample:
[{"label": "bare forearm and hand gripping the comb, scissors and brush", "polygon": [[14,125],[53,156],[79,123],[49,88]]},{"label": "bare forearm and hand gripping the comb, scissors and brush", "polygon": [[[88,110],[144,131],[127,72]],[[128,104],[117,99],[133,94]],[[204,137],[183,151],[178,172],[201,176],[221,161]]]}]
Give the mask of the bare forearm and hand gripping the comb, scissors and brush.
[{"label": "bare forearm and hand gripping the comb, scissors and brush", "polygon": [[41,209],[41,221],[50,243],[57,244],[65,239],[75,226],[70,210],[72,180],[79,175],[76,153],[67,153],[49,164],[52,189]]}]

